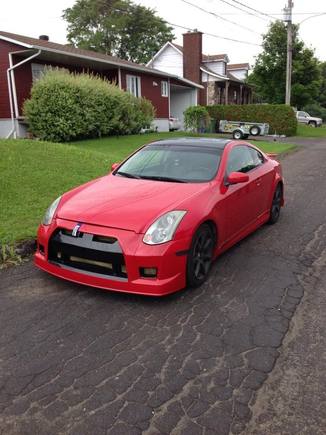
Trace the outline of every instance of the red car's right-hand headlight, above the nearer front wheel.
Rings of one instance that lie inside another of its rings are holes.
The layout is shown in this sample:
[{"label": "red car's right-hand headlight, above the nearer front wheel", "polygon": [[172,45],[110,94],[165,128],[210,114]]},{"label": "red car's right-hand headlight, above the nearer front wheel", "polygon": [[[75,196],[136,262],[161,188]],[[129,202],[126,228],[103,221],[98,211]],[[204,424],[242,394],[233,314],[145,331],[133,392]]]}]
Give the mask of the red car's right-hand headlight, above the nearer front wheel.
[{"label": "red car's right-hand headlight, above the nearer front wheel", "polygon": [[146,231],[143,242],[146,245],[158,245],[172,240],[178,225],[187,212],[175,210],[158,218]]}]

